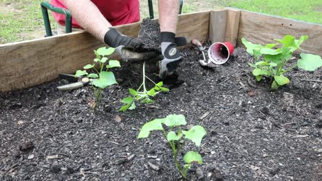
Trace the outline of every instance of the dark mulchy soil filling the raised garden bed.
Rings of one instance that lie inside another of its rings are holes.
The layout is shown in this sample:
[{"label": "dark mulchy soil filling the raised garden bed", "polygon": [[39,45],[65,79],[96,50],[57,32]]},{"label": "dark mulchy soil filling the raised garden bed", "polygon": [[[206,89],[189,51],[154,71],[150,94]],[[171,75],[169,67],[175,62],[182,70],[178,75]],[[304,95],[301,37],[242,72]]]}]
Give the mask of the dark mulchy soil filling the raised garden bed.
[{"label": "dark mulchy soil filling the raised garden bed", "polygon": [[[155,104],[118,112],[127,89],[138,88],[142,64],[122,62],[119,84],[107,88],[97,110],[90,86],[58,92],[66,80],[0,94],[0,180],[177,180],[171,150],[160,132],[138,140],[142,125],[184,114],[207,130],[191,180],[322,180],[322,80],[294,70],[291,82],[270,92],[255,82],[244,49],[214,69],[197,49],[182,50],[178,82]],[[295,61],[295,60],[292,60]],[[147,65],[157,80],[157,64]],[[202,118],[202,119],[201,119]]]}]

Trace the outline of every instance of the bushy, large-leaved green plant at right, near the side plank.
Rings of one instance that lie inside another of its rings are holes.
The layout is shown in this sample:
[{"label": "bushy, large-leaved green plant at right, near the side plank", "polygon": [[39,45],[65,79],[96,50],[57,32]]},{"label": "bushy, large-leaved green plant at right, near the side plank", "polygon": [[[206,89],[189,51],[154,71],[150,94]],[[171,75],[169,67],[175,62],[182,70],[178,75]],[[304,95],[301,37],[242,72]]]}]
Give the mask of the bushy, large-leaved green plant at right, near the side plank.
[{"label": "bushy, large-leaved green plant at right, near the side plank", "polygon": [[301,36],[297,40],[294,36],[286,35],[281,40],[275,39],[277,43],[265,46],[253,44],[245,38],[241,40],[247,48],[247,52],[253,55],[256,60],[255,64],[249,64],[250,67],[254,68],[253,75],[255,75],[256,80],[260,81],[263,76],[270,77],[272,80],[271,88],[276,90],[280,86],[290,83],[284,73],[291,71],[294,67],[299,67],[305,71],[315,71],[322,66],[321,57],[310,53],[301,53],[301,59],[297,60],[297,64],[288,64],[292,60],[294,51],[301,49],[300,45],[306,39],[308,39],[308,36]]}]

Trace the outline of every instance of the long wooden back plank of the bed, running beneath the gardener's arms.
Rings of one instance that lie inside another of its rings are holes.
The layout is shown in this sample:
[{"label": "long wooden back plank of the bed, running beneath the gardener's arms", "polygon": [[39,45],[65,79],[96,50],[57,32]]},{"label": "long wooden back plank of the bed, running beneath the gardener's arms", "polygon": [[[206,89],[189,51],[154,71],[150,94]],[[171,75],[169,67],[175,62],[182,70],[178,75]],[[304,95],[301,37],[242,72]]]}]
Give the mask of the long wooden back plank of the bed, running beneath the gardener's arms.
[{"label": "long wooden back plank of the bed, running beneath the gardener's arms", "polygon": [[[179,16],[178,36],[190,41],[208,38],[210,12]],[[117,27],[122,34],[138,36],[140,23]],[[94,49],[106,46],[87,32],[0,45],[0,92],[42,84],[59,73],[74,73],[92,62]]]}]

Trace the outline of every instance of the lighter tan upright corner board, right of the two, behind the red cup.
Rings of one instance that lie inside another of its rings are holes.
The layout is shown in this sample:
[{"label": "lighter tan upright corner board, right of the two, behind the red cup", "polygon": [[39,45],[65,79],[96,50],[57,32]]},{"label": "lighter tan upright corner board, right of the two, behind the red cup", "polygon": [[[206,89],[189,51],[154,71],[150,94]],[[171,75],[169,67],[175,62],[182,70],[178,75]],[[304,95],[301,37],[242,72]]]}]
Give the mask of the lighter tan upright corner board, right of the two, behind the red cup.
[{"label": "lighter tan upright corner board, right of the two, behind the red cup", "polygon": [[225,41],[230,42],[236,47],[239,28],[240,10],[227,9],[227,23]]}]

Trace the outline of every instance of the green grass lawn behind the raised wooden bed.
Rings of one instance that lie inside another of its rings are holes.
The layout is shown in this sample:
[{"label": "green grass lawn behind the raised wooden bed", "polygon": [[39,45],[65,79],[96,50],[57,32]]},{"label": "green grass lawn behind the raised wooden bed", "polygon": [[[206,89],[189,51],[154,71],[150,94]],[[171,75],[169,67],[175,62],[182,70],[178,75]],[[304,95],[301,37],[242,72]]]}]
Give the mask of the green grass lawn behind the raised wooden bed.
[{"label": "green grass lawn behind the raised wooden bed", "polygon": [[[41,1],[49,0],[0,0],[0,44],[45,35]],[[224,6],[322,24],[322,0],[184,0],[182,13]],[[158,1],[153,8],[158,18]],[[142,19],[149,17],[147,0],[140,0],[140,10]]]}]

